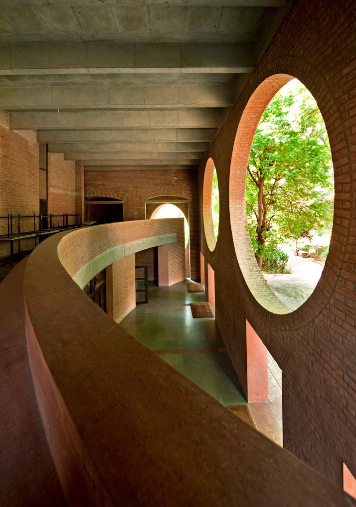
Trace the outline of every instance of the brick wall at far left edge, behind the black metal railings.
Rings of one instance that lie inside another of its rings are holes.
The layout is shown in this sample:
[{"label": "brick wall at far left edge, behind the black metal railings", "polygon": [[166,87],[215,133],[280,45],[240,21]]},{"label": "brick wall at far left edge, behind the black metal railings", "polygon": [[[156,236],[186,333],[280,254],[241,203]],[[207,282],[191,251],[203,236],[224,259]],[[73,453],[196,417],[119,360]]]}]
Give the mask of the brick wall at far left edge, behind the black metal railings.
[{"label": "brick wall at far left edge, behind the black metal railings", "polygon": [[[22,135],[9,130],[8,113],[0,111],[0,216],[38,214],[39,206],[40,159],[35,133],[24,131]],[[33,220],[21,221],[21,230],[26,228],[33,228]],[[7,233],[7,220],[1,219],[0,234],[4,233]],[[32,239],[22,240],[21,248],[32,244]],[[17,245],[14,247],[16,251]],[[9,252],[8,243],[0,244],[0,257]]]}]

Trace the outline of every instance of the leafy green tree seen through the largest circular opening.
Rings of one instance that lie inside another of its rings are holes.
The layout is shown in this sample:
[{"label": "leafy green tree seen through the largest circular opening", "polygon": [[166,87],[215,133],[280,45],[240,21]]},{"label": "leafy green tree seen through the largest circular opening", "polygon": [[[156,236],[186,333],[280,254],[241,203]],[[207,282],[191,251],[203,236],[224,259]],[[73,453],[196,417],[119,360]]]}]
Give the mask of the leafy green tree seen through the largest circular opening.
[{"label": "leafy green tree seen through the largest circular opening", "polygon": [[332,222],[332,159],[322,115],[297,80],[268,104],[246,178],[246,210],[258,265],[269,238],[308,237]]}]

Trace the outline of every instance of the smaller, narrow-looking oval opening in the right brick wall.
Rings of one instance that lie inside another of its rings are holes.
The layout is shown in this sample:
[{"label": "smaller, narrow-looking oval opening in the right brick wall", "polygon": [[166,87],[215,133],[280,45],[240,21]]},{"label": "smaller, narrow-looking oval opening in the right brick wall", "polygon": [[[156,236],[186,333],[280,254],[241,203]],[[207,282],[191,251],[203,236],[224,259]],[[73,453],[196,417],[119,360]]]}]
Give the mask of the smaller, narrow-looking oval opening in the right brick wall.
[{"label": "smaller, narrow-looking oval opening in the right brick wall", "polygon": [[215,249],[219,232],[219,184],[218,174],[212,158],[206,162],[203,183],[203,222],[206,244],[210,251]]}]

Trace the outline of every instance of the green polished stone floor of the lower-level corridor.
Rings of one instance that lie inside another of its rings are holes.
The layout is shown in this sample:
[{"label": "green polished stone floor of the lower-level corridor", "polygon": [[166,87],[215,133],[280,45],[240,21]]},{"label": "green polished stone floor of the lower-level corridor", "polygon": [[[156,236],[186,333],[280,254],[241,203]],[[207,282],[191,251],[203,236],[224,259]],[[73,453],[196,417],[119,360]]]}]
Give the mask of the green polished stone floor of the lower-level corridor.
[{"label": "green polished stone floor of the lower-level corridor", "polygon": [[149,304],[137,305],[121,322],[132,336],[226,406],[246,401],[228,353],[215,332],[215,318],[192,316],[187,281],[170,287],[150,285]]}]

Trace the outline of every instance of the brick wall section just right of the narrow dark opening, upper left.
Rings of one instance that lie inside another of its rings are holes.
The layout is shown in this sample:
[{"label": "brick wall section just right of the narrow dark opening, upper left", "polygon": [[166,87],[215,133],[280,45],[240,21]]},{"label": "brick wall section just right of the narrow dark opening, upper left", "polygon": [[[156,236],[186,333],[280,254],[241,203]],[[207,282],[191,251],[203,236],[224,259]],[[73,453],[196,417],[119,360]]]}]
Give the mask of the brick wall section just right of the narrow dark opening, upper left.
[{"label": "brick wall section just right of the narrow dark opening, upper left", "polygon": [[62,153],[48,154],[48,213],[76,212],[75,162]]}]

